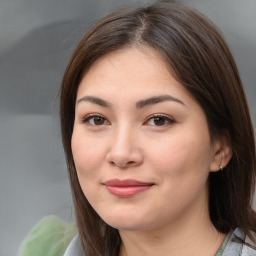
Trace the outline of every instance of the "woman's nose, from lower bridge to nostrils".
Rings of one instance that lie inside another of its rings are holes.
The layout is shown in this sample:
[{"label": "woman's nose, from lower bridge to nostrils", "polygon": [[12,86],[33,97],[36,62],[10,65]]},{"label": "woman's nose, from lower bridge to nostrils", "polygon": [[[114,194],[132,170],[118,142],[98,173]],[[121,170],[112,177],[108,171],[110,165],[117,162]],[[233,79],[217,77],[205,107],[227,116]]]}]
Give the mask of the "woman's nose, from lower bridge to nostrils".
[{"label": "woman's nose, from lower bridge to nostrils", "polygon": [[106,160],[114,166],[125,169],[139,166],[143,162],[138,138],[128,129],[119,129],[113,134]]}]

